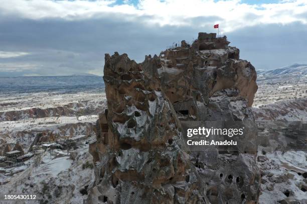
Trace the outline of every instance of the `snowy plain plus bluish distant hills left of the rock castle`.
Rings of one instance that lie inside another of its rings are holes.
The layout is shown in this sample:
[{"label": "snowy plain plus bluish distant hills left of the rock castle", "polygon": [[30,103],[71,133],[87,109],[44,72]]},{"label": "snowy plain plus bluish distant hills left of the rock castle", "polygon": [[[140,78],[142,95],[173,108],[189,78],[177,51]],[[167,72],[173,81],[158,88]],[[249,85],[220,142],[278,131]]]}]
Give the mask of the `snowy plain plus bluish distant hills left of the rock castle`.
[{"label": "snowy plain plus bluish distant hills left of the rock castle", "polygon": [[94,134],[98,114],[106,108],[99,76],[0,79],[0,152],[17,142],[28,150],[38,133],[56,139]]}]

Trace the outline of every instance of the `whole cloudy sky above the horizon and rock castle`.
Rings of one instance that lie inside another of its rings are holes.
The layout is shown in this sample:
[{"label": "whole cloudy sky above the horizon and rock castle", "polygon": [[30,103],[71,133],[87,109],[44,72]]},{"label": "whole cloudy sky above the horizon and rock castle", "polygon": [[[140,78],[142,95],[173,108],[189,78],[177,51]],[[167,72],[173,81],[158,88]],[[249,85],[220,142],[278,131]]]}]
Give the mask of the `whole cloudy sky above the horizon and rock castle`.
[{"label": "whole cloudy sky above the horizon and rock castle", "polygon": [[256,69],[307,63],[307,0],[0,0],[0,76],[102,75],[106,52],[140,62],[216,23]]}]

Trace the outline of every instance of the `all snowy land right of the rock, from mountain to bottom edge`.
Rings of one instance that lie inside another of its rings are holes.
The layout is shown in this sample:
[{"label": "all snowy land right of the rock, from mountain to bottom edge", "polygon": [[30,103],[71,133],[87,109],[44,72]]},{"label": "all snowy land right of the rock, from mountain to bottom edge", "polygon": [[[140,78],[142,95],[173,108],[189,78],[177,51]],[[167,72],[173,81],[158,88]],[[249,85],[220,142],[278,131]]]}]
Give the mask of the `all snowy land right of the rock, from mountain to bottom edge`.
[{"label": "all snowy land right of the rock, from mountain to bottom edge", "polygon": [[[257,155],[262,175],[260,204],[307,203],[307,152],[295,145],[287,150],[289,143],[284,135],[291,123],[307,123],[306,67],[293,64],[257,71],[253,112],[263,144]],[[296,139],[294,134],[292,142],[306,142],[301,136],[307,129],[290,129],[300,132]]]}]

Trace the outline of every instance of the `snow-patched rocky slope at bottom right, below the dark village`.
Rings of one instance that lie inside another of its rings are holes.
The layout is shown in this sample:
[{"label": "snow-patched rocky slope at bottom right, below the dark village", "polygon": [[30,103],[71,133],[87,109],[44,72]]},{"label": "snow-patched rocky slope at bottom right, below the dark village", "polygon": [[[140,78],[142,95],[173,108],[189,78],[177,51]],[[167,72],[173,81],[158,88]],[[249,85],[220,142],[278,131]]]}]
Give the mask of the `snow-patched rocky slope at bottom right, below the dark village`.
[{"label": "snow-patched rocky slope at bottom right, below the dark village", "polygon": [[259,203],[273,204],[284,199],[306,203],[307,184],[304,173],[307,172],[307,153],[274,151],[263,155],[261,146],[258,152],[258,156],[263,156],[265,160],[258,162],[262,174]]}]

